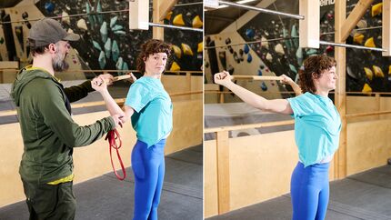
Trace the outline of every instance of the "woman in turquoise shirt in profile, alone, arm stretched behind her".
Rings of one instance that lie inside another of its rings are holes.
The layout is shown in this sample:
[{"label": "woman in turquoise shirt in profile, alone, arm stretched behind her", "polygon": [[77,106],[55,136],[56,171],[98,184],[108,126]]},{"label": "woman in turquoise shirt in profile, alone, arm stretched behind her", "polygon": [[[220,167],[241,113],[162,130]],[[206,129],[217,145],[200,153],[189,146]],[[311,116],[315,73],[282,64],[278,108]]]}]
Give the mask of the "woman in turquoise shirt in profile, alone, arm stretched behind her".
[{"label": "woman in turquoise shirt in profile, alone, arm stretched behind her", "polygon": [[217,73],[224,85],[256,108],[292,115],[299,161],[291,178],[293,220],[326,217],[329,197],[328,168],[339,144],[341,119],[328,93],[336,88],[336,62],[326,55],[306,58],[299,72],[303,95],[267,100],[234,84],[228,72]]}]

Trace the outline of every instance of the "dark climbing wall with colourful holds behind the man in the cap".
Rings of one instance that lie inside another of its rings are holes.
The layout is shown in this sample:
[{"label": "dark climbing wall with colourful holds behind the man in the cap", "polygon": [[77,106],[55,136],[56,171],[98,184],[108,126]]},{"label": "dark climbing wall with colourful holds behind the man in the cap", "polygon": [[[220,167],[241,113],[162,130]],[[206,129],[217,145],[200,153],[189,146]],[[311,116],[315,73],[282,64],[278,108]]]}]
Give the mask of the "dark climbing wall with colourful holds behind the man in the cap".
[{"label": "dark climbing wall with colourful holds behind the man in the cap", "polygon": [[[191,2],[181,1],[182,3]],[[152,38],[152,27],[148,31],[128,29],[128,2],[122,0],[25,0],[13,8],[1,11],[1,18],[9,17],[10,30],[13,31],[13,41],[6,42],[5,34],[0,33],[0,55],[2,60],[19,60],[21,66],[27,64],[28,48],[26,37],[28,30],[35,21],[27,21],[52,16],[62,16],[59,21],[68,32],[81,35],[81,40],[72,43],[75,51],[68,57],[72,70],[75,69],[135,69],[135,60],[140,45]],[[95,12],[120,11],[108,14]],[[89,14],[83,16],[71,16]],[[175,7],[165,17],[165,24],[182,25],[195,28],[203,26],[202,5]],[[150,16],[152,21],[152,1],[150,1]],[[15,21],[21,21],[15,23]],[[4,29],[5,25],[1,25]],[[1,29],[0,29],[1,31]],[[202,33],[165,28],[165,42],[171,43],[175,49],[173,60],[167,69],[200,70],[202,65]],[[11,55],[12,50],[15,55]],[[10,57],[11,56],[11,57]],[[175,62],[175,63],[174,63]],[[85,76],[94,76],[85,74]],[[72,77],[70,77],[72,78]]]}]

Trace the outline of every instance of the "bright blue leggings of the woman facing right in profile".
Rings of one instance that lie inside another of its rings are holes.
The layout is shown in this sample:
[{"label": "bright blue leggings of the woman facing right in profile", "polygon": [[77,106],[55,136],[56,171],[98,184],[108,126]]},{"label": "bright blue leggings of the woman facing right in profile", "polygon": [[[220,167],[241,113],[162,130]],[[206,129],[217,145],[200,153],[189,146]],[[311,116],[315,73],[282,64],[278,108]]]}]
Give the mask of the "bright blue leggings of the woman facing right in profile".
[{"label": "bright blue leggings of the woman facing right in profile", "polygon": [[291,179],[293,220],[323,220],[328,204],[329,163],[308,165],[297,163]]}]

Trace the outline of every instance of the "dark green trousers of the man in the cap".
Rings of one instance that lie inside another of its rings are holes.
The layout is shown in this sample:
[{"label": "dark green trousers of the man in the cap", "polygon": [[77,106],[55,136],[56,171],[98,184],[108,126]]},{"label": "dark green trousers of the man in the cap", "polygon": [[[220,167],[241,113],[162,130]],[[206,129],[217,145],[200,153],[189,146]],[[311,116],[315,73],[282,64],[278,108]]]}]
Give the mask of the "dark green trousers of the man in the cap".
[{"label": "dark green trousers of the man in the cap", "polygon": [[30,220],[75,219],[76,200],[73,182],[35,185],[23,182]]}]

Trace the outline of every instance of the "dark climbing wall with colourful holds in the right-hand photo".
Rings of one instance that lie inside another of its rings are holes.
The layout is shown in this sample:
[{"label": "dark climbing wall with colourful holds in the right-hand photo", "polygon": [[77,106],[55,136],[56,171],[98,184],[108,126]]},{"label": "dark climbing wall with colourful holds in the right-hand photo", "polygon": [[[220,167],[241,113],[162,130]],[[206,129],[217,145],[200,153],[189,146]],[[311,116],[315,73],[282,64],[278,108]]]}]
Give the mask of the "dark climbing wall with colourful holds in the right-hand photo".
[{"label": "dark climbing wall with colourful holds in the right-hand photo", "polygon": [[[290,14],[298,14],[298,1],[281,1],[267,5],[266,8]],[[334,42],[334,2],[320,1],[320,39],[327,42]],[[357,4],[357,0],[346,2],[346,15],[349,15]],[[247,44],[252,55],[253,62],[255,57],[259,57],[261,65],[251,70],[251,75],[266,75],[266,70],[276,75],[288,75],[294,80],[297,79],[297,70],[309,55],[326,54],[334,56],[334,46],[321,45],[318,50],[303,49],[298,47],[298,20],[279,15],[247,13],[235,29],[236,33],[243,39],[242,42],[255,42]],[[353,31],[346,44],[365,45],[370,47],[381,47],[382,44],[382,1],[376,0],[366,11],[364,17],[358,22],[356,28],[361,30]],[[232,27],[226,28],[233,31]],[[224,32],[227,32],[225,30]],[[248,63],[246,55],[247,46],[237,50],[234,46],[228,46],[230,42],[241,42],[240,37],[226,37],[226,56],[231,56],[236,61],[232,65],[237,66]],[[231,39],[229,39],[231,38]],[[241,58],[244,55],[244,58]],[[389,92],[390,87],[390,58],[384,57],[380,52],[346,48],[346,91],[348,92]],[[257,61],[256,61],[257,62]],[[262,68],[264,67],[264,68]],[[235,74],[235,72],[234,72]],[[248,73],[250,74],[250,73]],[[270,86],[261,86],[261,88],[270,89]],[[289,86],[286,88],[290,89]]]}]

